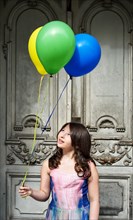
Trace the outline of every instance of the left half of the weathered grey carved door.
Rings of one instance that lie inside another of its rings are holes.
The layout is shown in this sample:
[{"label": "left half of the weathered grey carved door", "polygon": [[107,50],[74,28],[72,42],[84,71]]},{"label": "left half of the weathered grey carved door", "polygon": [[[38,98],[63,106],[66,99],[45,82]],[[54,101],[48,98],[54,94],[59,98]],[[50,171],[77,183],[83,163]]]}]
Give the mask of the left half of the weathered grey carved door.
[{"label": "left half of the weathered grey carved door", "polygon": [[[1,79],[4,78],[4,83],[1,83],[1,88],[2,93],[6,93],[4,96],[1,93],[4,121],[1,133],[0,219],[44,219],[49,201],[39,203],[31,198],[21,199],[18,189],[26,172],[25,184],[39,188],[42,161],[55,150],[58,127],[70,120],[71,100],[68,97],[71,82],[42,133],[69,77],[62,70],[60,77],[46,74],[42,78],[30,60],[28,40],[36,28],[52,20],[65,20],[66,3],[16,1],[15,4],[15,1],[4,1],[1,12],[2,9],[4,56],[1,53]],[[59,120],[58,115],[61,115]]]}]

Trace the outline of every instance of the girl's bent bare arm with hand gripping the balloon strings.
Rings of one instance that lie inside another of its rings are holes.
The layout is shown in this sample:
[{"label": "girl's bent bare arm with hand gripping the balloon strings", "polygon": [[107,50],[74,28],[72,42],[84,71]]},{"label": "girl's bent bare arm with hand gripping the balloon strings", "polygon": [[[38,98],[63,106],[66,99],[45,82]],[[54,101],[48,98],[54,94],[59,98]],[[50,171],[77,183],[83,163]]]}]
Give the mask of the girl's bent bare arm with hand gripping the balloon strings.
[{"label": "girl's bent bare arm with hand gripping the balloon strings", "polygon": [[41,169],[40,190],[32,189],[28,186],[21,186],[19,193],[22,197],[31,196],[38,201],[46,201],[50,195],[50,175],[48,160],[45,160]]}]

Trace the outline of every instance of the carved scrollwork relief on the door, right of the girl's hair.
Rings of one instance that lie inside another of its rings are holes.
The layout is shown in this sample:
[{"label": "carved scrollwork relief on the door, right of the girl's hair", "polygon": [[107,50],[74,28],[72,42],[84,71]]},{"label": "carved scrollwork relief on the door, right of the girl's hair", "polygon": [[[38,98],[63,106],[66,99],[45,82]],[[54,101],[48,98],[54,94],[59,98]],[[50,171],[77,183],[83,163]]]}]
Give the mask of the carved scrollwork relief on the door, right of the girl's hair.
[{"label": "carved scrollwork relief on the door, right of the girl's hair", "polygon": [[123,164],[129,166],[132,163],[132,158],[129,155],[131,150],[131,146],[121,146],[119,143],[115,143],[112,147],[110,144],[104,146],[103,143],[99,143],[93,146],[91,154],[92,157],[102,165],[112,165],[126,157],[123,160]]}]

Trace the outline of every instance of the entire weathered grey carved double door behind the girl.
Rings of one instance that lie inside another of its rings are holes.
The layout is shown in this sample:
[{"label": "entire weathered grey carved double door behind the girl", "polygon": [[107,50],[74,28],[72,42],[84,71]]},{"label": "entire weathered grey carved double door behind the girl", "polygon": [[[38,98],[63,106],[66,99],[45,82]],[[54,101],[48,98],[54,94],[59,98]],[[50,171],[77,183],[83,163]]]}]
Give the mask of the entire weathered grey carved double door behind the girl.
[{"label": "entire weathered grey carved double door behind the girl", "polygon": [[[61,69],[41,78],[30,60],[28,39],[52,20],[98,39],[102,56],[92,72],[69,80]],[[26,184],[39,187],[41,163],[54,152],[58,129],[70,120],[84,123],[92,135],[100,219],[133,219],[132,1],[3,0],[0,29],[0,219],[44,219],[49,201],[22,199],[18,189],[25,172]]]}]

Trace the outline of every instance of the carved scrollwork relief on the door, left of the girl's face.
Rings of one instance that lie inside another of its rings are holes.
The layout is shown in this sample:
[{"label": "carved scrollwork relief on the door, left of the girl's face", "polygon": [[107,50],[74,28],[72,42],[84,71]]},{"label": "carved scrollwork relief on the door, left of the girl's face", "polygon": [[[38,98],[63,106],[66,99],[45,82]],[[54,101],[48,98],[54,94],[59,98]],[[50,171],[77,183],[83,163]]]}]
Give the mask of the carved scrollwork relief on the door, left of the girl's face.
[{"label": "carved scrollwork relief on the door, left of the girl's face", "polygon": [[15,156],[21,160],[23,164],[41,164],[47,157],[52,155],[56,150],[55,144],[46,145],[44,143],[36,144],[33,152],[23,142],[19,145],[10,145],[10,153],[7,155],[7,163],[12,165],[16,163]]}]

